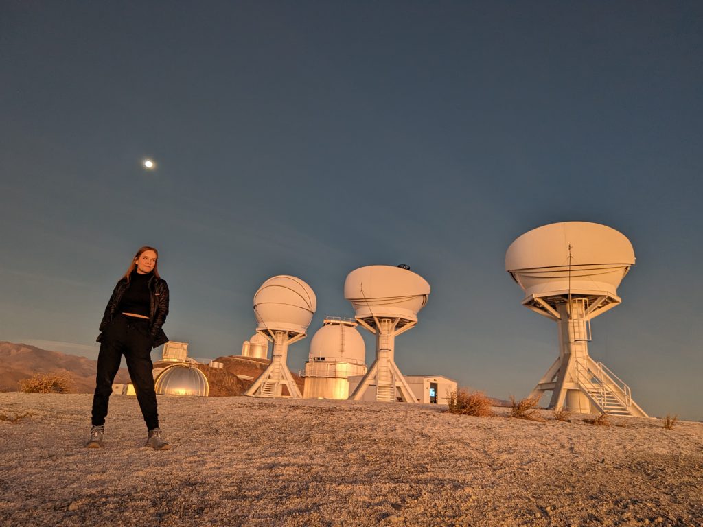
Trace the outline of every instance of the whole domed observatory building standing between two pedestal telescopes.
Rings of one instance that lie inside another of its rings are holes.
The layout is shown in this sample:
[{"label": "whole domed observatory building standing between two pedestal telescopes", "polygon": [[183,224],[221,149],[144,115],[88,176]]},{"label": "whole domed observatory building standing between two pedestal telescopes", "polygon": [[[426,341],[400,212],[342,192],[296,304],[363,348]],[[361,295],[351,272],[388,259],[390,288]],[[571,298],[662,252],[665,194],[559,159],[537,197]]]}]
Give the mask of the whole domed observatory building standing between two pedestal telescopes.
[{"label": "whole domed observatory building standing between two pedestal telescopes", "polygon": [[348,377],[366,373],[366,344],[356,320],[327,317],[310,341],[303,397],[346,399]]}]

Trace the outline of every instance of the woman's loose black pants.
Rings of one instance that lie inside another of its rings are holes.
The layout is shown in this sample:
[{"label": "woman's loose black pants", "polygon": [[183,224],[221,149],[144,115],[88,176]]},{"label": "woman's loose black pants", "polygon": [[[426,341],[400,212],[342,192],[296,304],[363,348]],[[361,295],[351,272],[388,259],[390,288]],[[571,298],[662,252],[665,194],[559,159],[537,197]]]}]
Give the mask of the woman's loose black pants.
[{"label": "woman's loose black pants", "polygon": [[125,315],[117,315],[103,331],[93,396],[93,427],[105,424],[112,382],[120,369],[122,355],[127,360],[127,370],[134,384],[136,399],[139,401],[146,427],[153,430],[159,426],[159,415],[156,410],[152,373],[149,321],[146,318]]}]

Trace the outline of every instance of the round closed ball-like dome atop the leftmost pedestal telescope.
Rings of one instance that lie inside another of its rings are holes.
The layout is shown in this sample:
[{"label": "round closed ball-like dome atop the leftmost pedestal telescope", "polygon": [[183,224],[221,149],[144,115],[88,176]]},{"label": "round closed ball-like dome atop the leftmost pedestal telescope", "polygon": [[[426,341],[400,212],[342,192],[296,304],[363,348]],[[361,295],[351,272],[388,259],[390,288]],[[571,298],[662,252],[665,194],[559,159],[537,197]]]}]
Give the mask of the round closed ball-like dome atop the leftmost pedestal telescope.
[{"label": "round closed ball-like dome atop the leftmost pedestal telescope", "polygon": [[295,276],[269,278],[254,294],[257,330],[304,333],[316,308],[312,288]]}]

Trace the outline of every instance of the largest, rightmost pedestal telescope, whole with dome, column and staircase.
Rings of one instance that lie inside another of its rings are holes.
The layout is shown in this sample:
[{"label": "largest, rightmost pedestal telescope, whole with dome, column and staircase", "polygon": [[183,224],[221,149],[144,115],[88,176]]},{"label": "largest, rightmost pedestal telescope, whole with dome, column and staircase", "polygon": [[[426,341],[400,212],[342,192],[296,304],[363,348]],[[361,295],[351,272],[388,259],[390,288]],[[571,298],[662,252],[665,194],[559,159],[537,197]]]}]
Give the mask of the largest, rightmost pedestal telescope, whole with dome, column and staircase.
[{"label": "largest, rightmost pedestal telescope, whole with dome, column and staircase", "polygon": [[617,287],[634,263],[623,234],[585,221],[530,230],[508,247],[505,270],[524,290],[522,305],[559,330],[559,357],[530,397],[552,391],[549,408],[647,416],[629,386],[588,356],[591,320],[620,304]]}]

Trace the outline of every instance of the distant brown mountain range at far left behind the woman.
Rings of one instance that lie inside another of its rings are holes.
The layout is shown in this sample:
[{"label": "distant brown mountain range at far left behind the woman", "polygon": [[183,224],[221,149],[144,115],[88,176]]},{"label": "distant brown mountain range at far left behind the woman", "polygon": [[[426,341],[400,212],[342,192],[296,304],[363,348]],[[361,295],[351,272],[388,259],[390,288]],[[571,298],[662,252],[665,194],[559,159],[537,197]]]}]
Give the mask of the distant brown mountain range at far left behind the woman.
[{"label": "distant brown mountain range at far left behind the woman", "polygon": [[[75,382],[76,393],[95,391],[96,360],[49,351],[29,346],[0,341],[0,391],[19,391],[19,382],[37,373],[63,373]],[[115,382],[129,382],[129,373],[120,368]]]}]

